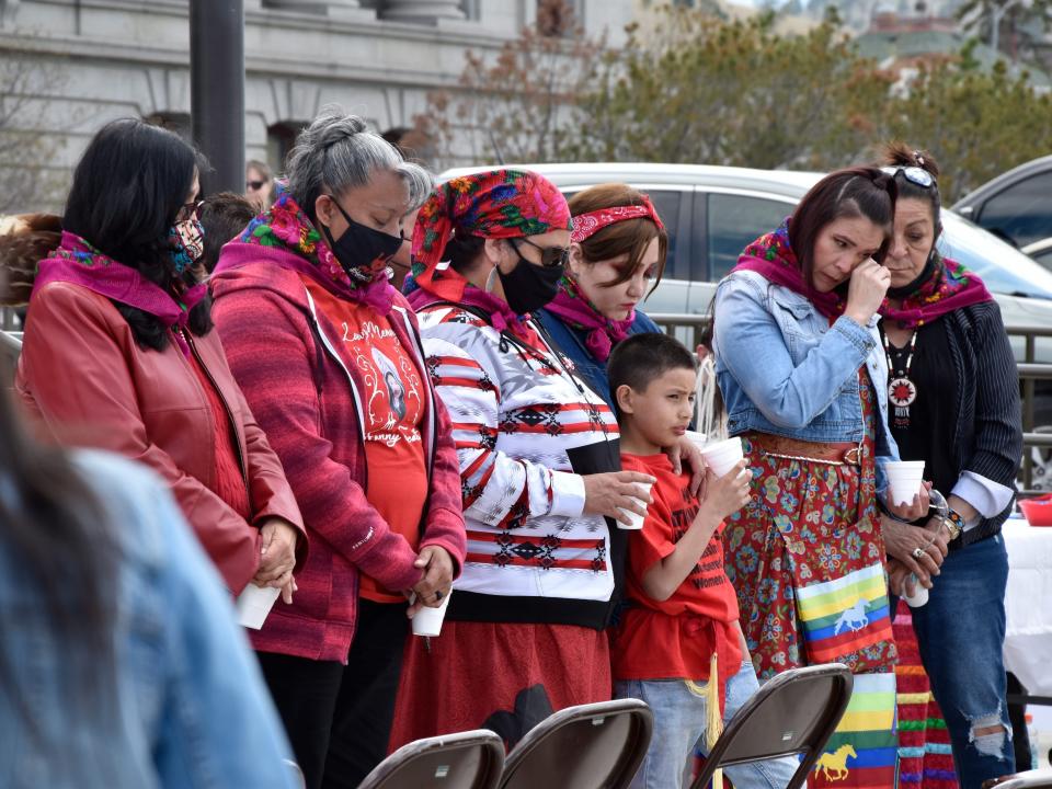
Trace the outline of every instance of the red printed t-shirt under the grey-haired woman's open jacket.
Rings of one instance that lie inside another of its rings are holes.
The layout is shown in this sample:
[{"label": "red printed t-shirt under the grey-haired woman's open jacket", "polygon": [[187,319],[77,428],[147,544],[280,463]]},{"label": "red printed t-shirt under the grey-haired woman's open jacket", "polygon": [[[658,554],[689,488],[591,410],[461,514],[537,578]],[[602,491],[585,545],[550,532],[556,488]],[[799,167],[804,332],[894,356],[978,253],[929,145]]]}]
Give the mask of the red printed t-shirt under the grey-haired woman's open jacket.
[{"label": "red printed t-shirt under the grey-haired woman's open jacket", "polygon": [[[416,550],[427,501],[427,464],[421,441],[424,385],[413,357],[402,347],[390,321],[366,305],[345,301],[304,277],[315,305],[336,328],[343,362],[365,381],[365,495]],[[387,590],[362,573],[359,594],[377,603],[404,603],[400,590]]]}]

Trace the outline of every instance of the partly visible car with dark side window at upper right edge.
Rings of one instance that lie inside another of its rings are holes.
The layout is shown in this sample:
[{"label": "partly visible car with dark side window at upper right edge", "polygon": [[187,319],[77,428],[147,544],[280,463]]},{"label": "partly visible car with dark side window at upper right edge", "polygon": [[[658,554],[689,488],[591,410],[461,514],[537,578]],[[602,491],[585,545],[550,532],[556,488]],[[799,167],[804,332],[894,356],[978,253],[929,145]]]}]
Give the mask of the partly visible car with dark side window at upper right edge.
[{"label": "partly visible car with dark side window at upper right edge", "polygon": [[959,199],[952,210],[1026,247],[1052,236],[1052,156],[1002,173]]}]

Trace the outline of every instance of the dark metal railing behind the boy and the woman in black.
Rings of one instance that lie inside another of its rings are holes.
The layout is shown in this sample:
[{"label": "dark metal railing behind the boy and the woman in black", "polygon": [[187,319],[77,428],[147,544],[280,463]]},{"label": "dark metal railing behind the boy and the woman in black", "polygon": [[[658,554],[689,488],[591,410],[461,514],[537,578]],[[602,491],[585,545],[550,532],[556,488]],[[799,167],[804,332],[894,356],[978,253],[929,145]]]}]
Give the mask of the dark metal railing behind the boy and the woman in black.
[{"label": "dark metal railing behind the boy and the woman in black", "polygon": [[[710,318],[706,315],[688,313],[651,313],[650,318],[668,334],[674,334],[688,347],[694,348],[701,342],[702,332],[708,328]],[[1043,432],[1036,424],[1037,384],[1052,381],[1052,364],[1037,362],[1037,341],[1040,338],[1052,338],[1052,327],[1006,327],[1009,336],[1022,338],[1022,359],[1016,365],[1019,371],[1020,395],[1022,409],[1022,467],[1019,471],[1022,492],[1030,492],[1033,488],[1033,454],[1031,449],[1052,449],[1052,425]],[[688,338],[689,340],[687,340]],[[1036,430],[1038,428],[1038,430]]]}]

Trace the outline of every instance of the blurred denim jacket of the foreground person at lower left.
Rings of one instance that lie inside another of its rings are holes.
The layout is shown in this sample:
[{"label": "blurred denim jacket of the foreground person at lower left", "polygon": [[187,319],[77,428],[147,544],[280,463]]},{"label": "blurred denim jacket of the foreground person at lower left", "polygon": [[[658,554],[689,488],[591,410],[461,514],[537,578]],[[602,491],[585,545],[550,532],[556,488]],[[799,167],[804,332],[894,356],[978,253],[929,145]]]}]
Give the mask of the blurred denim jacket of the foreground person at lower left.
[{"label": "blurred denim jacket of the foreground person at lower left", "polygon": [[[160,479],[99,451],[73,460],[121,541],[115,671],[77,704],[67,650],[43,616],[38,580],[0,539],[0,786],[291,789],[291,751],[230,596]],[[61,568],[54,569],[61,584]],[[277,603],[282,605],[282,603]],[[4,674],[7,676],[4,677]],[[35,729],[35,731],[34,731]]]}]

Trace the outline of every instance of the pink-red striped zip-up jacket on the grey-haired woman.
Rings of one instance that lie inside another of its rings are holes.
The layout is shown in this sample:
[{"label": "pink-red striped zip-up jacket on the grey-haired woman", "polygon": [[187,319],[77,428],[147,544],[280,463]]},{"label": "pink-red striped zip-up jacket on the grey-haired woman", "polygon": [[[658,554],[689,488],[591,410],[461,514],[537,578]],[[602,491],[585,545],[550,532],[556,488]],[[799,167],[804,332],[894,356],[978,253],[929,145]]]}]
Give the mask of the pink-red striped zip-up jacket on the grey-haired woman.
[{"label": "pink-red striped zip-up jacket on the grey-haired woman", "polygon": [[[291,260],[290,260],[291,259]],[[298,271],[297,271],[298,270]],[[238,384],[277,453],[304,514],[311,550],[293,605],[278,601],[252,643],[263,652],[346,663],[358,572],[382,586],[420,579],[415,552],[369,504],[358,371],[341,363],[336,328],[316,312],[287,250],[231,242],[211,277],[213,317]],[[313,278],[335,290],[318,270]],[[420,547],[442,546],[459,573],[466,552],[460,471],[449,418],[426,375],[416,317],[401,295],[388,319],[428,381],[421,434],[430,495]]]}]

